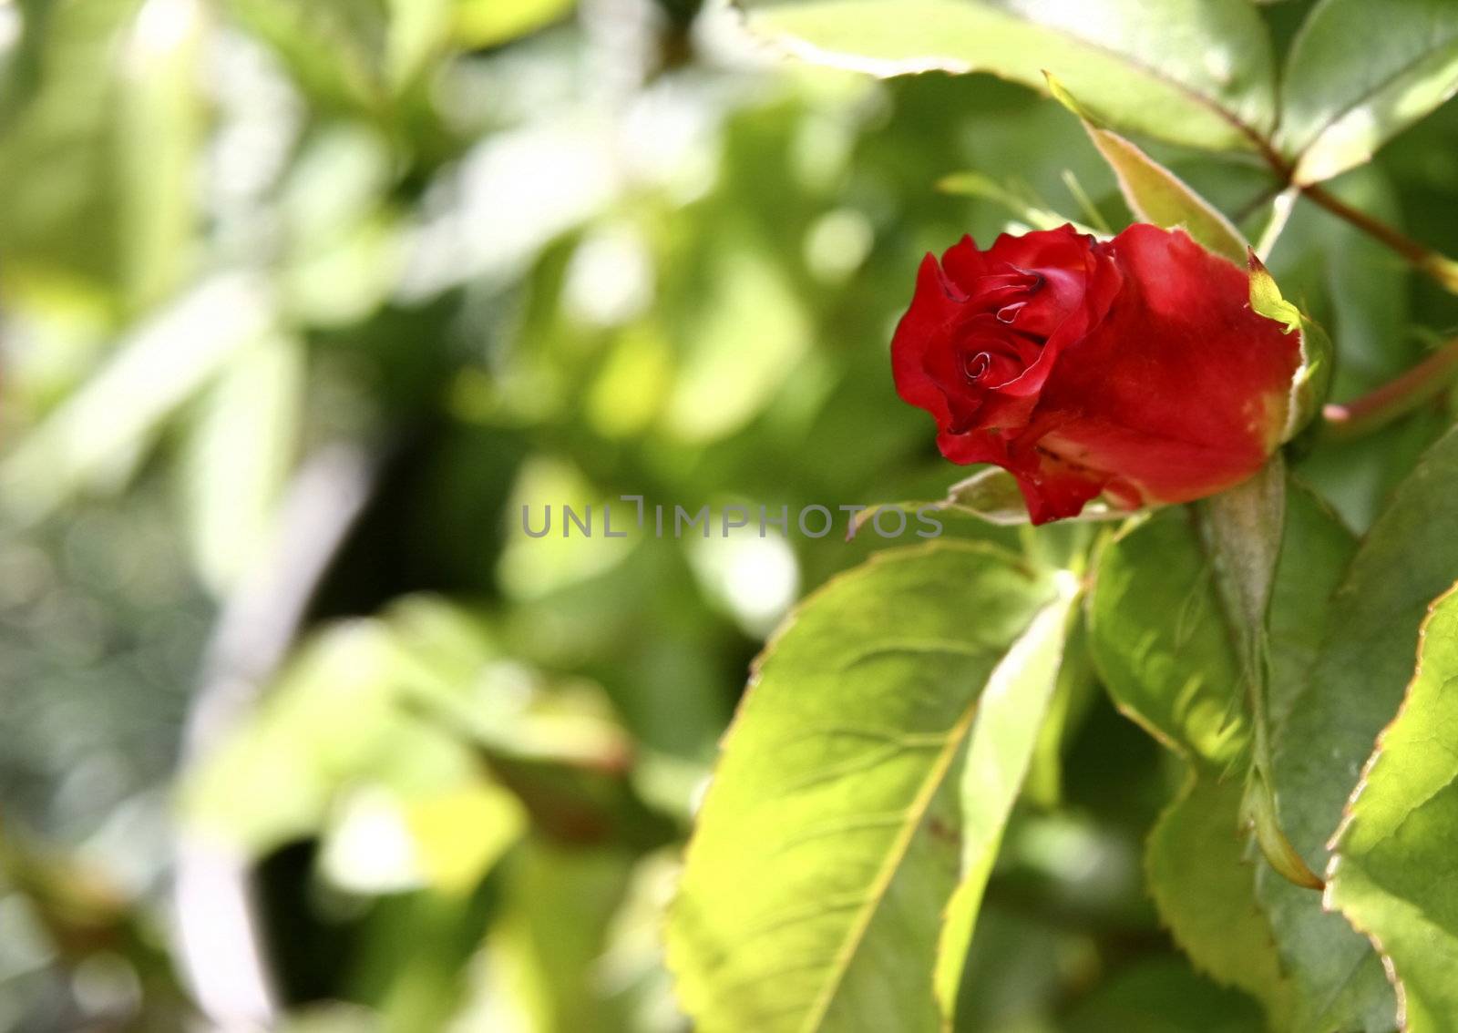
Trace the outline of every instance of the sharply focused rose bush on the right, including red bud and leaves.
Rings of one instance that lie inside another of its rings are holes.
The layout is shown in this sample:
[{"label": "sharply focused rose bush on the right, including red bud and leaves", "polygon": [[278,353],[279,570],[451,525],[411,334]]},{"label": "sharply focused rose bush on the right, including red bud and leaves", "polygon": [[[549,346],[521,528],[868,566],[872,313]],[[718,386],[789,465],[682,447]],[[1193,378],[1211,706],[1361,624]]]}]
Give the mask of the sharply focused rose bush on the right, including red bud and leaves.
[{"label": "sharply focused rose bush on the right, including red bud and leaves", "polygon": [[[668,916],[694,1029],[1458,1030],[1458,168],[1452,118],[1413,125],[1458,96],[1458,4],[735,6],[905,74],[911,135],[822,181],[875,240],[828,337],[904,313],[900,396],[989,466],[948,488],[900,406],[881,497],[945,494],[943,539],[830,577],[755,661]],[[815,271],[840,236],[806,224]],[[967,230],[907,310],[908,242]],[[854,353],[865,393],[765,433],[869,474],[894,399]],[[1077,513],[1114,520],[1022,526]]]}]

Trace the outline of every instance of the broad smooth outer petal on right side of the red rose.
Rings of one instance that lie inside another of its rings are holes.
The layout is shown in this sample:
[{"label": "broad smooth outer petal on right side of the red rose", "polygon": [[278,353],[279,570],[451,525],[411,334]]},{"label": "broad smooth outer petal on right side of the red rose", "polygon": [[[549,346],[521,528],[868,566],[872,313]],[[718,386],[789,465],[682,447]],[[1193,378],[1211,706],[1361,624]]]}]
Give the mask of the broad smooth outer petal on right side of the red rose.
[{"label": "broad smooth outer petal on right side of the red rose", "polygon": [[1251,312],[1245,274],[1182,230],[1140,224],[1099,246],[1126,290],[1047,380],[1038,412],[1057,431],[1042,447],[1147,501],[1245,479],[1284,425],[1299,339]]}]

